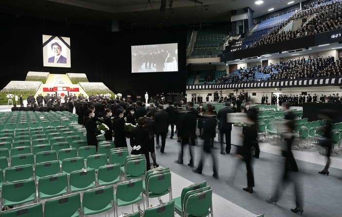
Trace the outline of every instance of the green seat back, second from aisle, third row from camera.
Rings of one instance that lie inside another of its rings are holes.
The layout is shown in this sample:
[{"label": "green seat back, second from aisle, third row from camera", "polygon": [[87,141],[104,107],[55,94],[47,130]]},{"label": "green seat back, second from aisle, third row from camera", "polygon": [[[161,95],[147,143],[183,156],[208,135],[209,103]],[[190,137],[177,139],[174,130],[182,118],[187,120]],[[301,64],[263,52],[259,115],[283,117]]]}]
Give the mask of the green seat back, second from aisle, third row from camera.
[{"label": "green seat back, second from aisle, third row from camera", "polygon": [[97,184],[99,186],[116,184],[120,182],[120,175],[120,164],[99,167],[97,172]]}]

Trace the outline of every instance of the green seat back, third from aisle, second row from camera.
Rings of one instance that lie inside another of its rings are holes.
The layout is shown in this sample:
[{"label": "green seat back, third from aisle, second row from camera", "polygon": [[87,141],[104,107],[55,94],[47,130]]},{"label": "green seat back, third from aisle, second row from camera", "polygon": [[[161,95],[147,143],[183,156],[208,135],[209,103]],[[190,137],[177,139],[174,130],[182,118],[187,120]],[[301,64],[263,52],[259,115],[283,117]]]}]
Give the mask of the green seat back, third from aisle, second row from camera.
[{"label": "green seat back, third from aisle, second row from camera", "polygon": [[104,186],[84,192],[82,210],[84,215],[98,214],[113,207],[113,186]]}]

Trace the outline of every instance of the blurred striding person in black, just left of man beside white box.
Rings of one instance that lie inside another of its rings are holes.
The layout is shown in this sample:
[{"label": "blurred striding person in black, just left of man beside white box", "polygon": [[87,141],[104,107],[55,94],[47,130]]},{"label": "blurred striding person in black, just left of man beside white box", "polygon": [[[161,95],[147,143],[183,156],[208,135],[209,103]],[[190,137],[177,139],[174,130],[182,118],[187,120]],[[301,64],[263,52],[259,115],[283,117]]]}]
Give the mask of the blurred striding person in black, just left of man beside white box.
[{"label": "blurred striding person in black, just left of man beside white box", "polygon": [[203,164],[204,164],[204,154],[210,154],[213,158],[213,177],[215,177],[215,179],[218,179],[218,169],[217,169],[217,162],[216,162],[216,157],[214,156],[214,154],[211,152],[211,138],[216,136],[216,124],[217,124],[217,120],[216,120],[216,115],[214,113],[210,113],[208,112],[206,115],[203,115],[203,123],[202,123],[202,127],[203,127],[203,134],[201,136],[201,138],[204,140],[204,144],[203,144],[203,151],[202,151],[202,155],[201,155],[201,159],[199,160],[198,163],[198,167],[196,169],[193,169],[192,171],[194,173],[199,173],[202,174],[202,168],[203,168]]}]

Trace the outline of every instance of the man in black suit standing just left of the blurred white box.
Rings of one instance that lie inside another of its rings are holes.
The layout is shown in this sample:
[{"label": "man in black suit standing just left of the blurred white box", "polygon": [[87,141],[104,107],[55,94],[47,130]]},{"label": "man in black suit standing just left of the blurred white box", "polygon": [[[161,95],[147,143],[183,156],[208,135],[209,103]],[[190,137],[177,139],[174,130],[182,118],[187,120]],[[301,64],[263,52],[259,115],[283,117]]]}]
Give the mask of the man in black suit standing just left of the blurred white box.
[{"label": "man in black suit standing just left of the blurred white box", "polygon": [[[231,132],[232,123],[227,122],[227,114],[234,113],[232,109],[229,108],[230,102],[225,103],[225,107],[221,108],[217,113],[217,119],[220,121],[218,124],[218,130],[220,131],[221,138],[221,154],[229,154],[231,152]],[[226,135],[226,149],[223,149],[223,134]]]}]

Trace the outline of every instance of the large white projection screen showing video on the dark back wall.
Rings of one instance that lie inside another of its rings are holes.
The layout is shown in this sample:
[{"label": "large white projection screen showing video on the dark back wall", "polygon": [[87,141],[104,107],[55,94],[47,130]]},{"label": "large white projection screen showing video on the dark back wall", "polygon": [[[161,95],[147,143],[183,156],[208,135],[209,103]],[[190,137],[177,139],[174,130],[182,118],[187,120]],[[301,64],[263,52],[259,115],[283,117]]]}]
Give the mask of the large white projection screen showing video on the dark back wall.
[{"label": "large white projection screen showing video on the dark back wall", "polygon": [[178,44],[132,46],[132,73],[178,71]]}]

